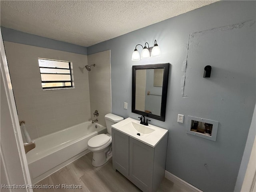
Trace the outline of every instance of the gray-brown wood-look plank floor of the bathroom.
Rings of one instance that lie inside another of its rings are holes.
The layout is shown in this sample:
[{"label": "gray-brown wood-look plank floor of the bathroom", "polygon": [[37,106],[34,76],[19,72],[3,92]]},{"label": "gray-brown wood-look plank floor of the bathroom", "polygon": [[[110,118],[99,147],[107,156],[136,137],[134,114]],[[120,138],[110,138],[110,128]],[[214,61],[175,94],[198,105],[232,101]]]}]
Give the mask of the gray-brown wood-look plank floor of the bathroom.
[{"label": "gray-brown wood-look plank floor of the bathroom", "polygon": [[[60,189],[56,186],[60,184]],[[62,188],[62,184],[71,189]],[[34,189],[34,192],[141,192],[132,182],[112,169],[112,159],[100,167],[92,166],[92,152],[68,164],[36,185],[53,185],[54,189]],[[74,189],[81,185],[81,189]],[[73,188],[73,189],[72,189]],[[158,192],[186,192],[164,178]]]}]

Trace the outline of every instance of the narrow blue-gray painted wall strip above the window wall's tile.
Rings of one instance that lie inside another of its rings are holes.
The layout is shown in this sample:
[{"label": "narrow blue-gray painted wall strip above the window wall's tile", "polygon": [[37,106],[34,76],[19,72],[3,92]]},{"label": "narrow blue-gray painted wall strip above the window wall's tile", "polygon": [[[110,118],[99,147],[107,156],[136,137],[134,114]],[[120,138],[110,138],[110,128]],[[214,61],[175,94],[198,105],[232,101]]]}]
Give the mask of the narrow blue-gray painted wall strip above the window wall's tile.
[{"label": "narrow blue-gray painted wall strip above the window wall's tile", "polygon": [[87,55],[87,48],[1,26],[4,41]]}]

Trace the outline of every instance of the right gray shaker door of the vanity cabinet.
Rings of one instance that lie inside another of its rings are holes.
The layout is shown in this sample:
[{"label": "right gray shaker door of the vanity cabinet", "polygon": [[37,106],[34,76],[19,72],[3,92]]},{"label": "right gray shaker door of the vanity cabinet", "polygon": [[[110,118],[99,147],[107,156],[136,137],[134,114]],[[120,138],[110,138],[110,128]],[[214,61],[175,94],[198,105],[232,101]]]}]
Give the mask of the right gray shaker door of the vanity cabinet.
[{"label": "right gray shaker door of the vanity cabinet", "polygon": [[129,176],[142,191],[152,191],[154,148],[129,138]]}]

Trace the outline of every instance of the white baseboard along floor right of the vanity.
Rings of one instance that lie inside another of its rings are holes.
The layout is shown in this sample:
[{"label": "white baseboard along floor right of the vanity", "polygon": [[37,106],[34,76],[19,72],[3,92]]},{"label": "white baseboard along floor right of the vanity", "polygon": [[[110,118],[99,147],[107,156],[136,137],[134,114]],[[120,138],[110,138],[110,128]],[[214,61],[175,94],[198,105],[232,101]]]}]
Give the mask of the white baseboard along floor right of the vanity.
[{"label": "white baseboard along floor right of the vanity", "polygon": [[173,182],[174,184],[184,188],[188,192],[203,192],[200,189],[196,188],[195,186],[192,186],[188,182],[182,180],[181,178],[178,178],[177,176],[175,176],[174,174],[171,174],[166,170],[165,170],[164,177],[170,180],[171,182]]}]

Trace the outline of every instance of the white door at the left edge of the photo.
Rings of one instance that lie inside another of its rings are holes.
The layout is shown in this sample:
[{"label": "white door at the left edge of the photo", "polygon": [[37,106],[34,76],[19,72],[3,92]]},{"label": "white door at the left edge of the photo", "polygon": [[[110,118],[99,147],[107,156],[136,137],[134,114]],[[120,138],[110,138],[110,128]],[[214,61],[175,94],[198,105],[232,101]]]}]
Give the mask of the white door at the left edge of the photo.
[{"label": "white door at the left edge of the photo", "polygon": [[32,192],[1,30],[0,60],[0,191]]}]

